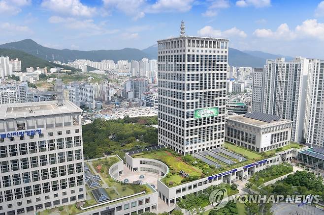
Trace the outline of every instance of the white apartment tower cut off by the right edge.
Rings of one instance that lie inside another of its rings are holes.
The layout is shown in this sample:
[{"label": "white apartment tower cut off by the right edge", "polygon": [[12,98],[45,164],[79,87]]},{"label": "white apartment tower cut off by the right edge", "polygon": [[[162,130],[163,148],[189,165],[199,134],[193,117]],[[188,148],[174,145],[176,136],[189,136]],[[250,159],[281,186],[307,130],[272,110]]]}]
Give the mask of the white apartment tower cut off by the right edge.
[{"label": "white apartment tower cut off by the right edge", "polygon": [[314,59],[308,80],[306,143],[324,146],[324,60]]}]

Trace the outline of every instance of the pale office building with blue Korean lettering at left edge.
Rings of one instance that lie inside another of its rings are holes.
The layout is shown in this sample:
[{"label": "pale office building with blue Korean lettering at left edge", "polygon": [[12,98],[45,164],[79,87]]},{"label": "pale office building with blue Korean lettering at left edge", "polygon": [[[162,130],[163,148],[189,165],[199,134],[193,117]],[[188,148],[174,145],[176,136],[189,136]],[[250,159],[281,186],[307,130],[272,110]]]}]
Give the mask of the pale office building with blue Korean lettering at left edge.
[{"label": "pale office building with blue Korean lettering at left edge", "polygon": [[0,106],[0,214],[85,200],[81,112],[57,101]]}]

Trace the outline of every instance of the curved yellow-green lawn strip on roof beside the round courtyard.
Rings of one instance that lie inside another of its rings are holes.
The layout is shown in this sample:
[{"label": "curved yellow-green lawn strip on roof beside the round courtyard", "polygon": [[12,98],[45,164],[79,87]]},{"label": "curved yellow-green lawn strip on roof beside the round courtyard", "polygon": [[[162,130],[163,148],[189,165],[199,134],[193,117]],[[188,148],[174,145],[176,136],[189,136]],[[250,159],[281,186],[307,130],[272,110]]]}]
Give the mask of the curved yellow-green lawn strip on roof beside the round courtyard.
[{"label": "curved yellow-green lawn strip on roof beside the round courtyard", "polygon": [[134,155],[133,158],[149,158],[159,160],[165,163],[170,168],[170,170],[174,169],[176,172],[183,170],[192,176],[200,176],[202,173],[201,169],[198,169],[194,166],[188,165],[187,163],[181,160],[178,160],[173,155],[168,154],[167,151],[155,151],[149,154]]}]

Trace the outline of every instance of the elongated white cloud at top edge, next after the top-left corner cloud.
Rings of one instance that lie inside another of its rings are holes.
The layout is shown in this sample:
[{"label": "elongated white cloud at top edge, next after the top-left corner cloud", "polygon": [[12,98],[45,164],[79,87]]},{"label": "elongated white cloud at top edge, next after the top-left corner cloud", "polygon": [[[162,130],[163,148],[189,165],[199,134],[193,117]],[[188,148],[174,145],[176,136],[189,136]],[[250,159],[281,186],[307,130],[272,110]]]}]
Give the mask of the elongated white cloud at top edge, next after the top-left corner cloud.
[{"label": "elongated white cloud at top edge, next after the top-left corner cloud", "polygon": [[43,0],[41,6],[49,10],[73,16],[91,17],[96,13],[95,7],[88,7],[80,0]]}]

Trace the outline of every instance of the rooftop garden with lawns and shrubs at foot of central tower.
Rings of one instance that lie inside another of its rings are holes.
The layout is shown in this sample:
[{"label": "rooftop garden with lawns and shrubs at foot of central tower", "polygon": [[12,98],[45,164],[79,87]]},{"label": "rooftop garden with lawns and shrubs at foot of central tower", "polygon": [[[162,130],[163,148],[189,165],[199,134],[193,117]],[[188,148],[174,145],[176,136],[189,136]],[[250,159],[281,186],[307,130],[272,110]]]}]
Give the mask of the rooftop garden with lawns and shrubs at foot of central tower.
[{"label": "rooftop garden with lawns and shrubs at foot of central tower", "polygon": [[[279,151],[287,150],[290,148],[301,148],[301,147],[303,146],[299,145],[298,143],[292,142],[290,145],[284,146],[276,150],[271,150],[265,153],[258,153],[253,150],[249,150],[240,146],[236,146],[232,143],[225,142],[224,148],[238,155],[243,156],[247,160],[239,162],[233,158],[230,158],[230,160],[236,161],[236,163],[228,165],[222,161],[219,160],[216,161],[214,158],[209,157],[208,155],[205,156],[206,158],[210,160],[215,160],[217,163],[221,164],[220,168],[216,168],[215,166],[208,165],[204,161],[196,159],[191,155],[181,156],[180,154],[177,154],[170,149],[160,149],[155,151],[143,152],[140,154],[132,155],[132,157],[155,159],[165,163],[169,167],[170,172],[162,179],[162,182],[168,187],[175,187],[190,181],[197,180],[199,178],[204,178],[210,175],[226,172],[228,170],[235,169],[244,165],[248,165],[253,162],[261,161],[263,159],[274,156],[275,153]],[[223,155],[222,153],[220,154],[228,158],[228,156]],[[180,173],[180,170],[187,173],[189,177],[184,177]]]}]

